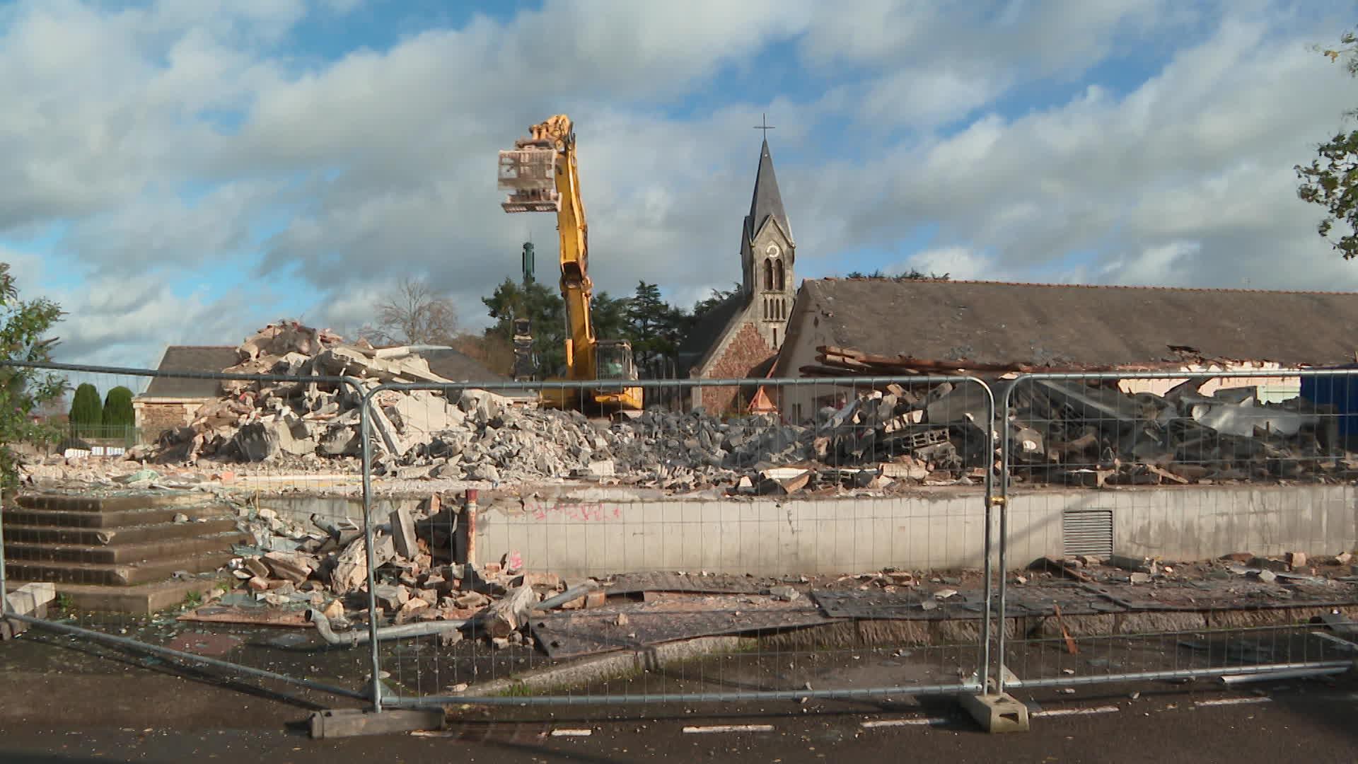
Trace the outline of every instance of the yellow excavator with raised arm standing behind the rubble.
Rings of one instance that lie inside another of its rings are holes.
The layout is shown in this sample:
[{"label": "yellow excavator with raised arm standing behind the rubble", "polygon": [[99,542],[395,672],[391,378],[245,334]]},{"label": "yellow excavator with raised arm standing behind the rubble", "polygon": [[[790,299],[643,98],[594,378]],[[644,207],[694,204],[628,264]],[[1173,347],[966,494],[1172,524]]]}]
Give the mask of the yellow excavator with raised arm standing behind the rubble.
[{"label": "yellow excavator with raised arm standing behind the rubble", "polygon": [[[634,382],[637,367],[626,340],[595,337],[589,315],[589,235],[580,175],[576,132],[570,117],[557,114],[528,128],[527,139],[500,152],[500,188],[508,192],[505,212],[555,212],[561,237],[561,296],[566,303],[566,379]],[[549,379],[554,382],[555,379]],[[642,409],[641,387],[600,385],[593,389],[546,389],[542,402],[585,413],[636,415]]]}]

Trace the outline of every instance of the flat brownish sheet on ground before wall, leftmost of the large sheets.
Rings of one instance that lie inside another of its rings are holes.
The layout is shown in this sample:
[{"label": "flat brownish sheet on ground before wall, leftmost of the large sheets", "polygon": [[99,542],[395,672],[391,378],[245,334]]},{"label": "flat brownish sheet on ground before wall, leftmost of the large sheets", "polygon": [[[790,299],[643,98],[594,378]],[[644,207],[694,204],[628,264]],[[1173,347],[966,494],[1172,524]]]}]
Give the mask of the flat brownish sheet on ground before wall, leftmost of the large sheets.
[{"label": "flat brownish sheet on ground before wall, leftmost of the large sheets", "polygon": [[[698,636],[736,635],[837,623],[805,600],[752,601],[714,595],[656,600],[538,614],[532,636],[551,658],[574,658]],[[621,616],[621,617],[619,617]]]}]

